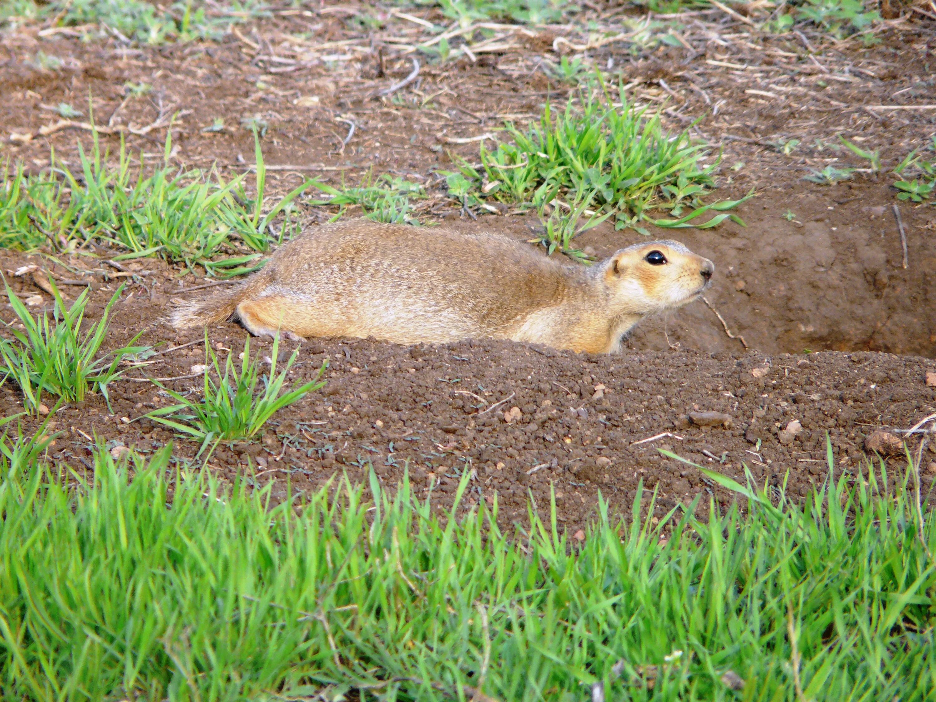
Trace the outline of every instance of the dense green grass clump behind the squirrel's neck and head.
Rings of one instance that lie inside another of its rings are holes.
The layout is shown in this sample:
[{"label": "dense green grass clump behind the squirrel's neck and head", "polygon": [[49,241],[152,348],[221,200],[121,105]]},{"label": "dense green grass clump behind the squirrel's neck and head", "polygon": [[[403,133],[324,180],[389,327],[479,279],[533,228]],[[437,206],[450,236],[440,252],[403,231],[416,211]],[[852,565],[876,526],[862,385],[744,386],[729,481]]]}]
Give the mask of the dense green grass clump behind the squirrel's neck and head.
[{"label": "dense green grass clump behind the squirrel's neck and head", "polygon": [[[600,74],[597,78],[601,81]],[[667,133],[658,114],[648,116],[628,105],[622,89],[619,95],[622,104],[614,105],[607,89],[603,99],[582,92],[578,106],[569,98],[555,117],[547,104],[539,124],[526,131],[507,125],[513,143],[500,143],[494,151],[482,145],[480,171],[461,162],[454,177],[474,185],[475,198],[484,193],[521,206],[582,194],[592,197],[597,209],[613,213],[617,228],[634,227],[644,234],[642,222],[707,228],[730,216],[741,223],[724,211],[746,198],[710,204],[701,199],[713,187],[714,164],[703,163],[709,155],[705,144],[687,131]],[[672,218],[651,217],[654,210]]]}]

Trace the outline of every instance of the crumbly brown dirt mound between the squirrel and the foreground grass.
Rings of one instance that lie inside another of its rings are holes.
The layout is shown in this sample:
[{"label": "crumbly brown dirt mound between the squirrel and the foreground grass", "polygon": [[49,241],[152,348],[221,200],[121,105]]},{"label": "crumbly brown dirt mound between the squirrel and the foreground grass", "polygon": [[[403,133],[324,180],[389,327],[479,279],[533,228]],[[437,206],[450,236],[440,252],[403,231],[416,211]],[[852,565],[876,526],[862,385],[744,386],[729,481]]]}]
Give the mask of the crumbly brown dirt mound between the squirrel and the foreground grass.
[{"label": "crumbly brown dirt mound between the squirrel and the foreground grass", "polygon": [[[23,261],[7,256],[4,268]],[[204,363],[202,336],[157,321],[177,284],[161,277],[147,283],[149,294],[133,286],[133,295],[128,291],[116,306],[109,343],[129,341],[146,320],[139,342],[164,352],[147,373],[177,378],[165,382],[180,392],[198,391],[192,367]],[[35,292],[22,279],[16,285]],[[89,314],[110,299],[110,286],[94,292]],[[221,358],[240,354],[245,337],[233,324],[210,329]],[[281,348],[281,358],[293,347]],[[251,348],[263,357],[271,343],[253,339]],[[827,475],[826,433],[837,471],[848,471],[863,455],[865,435],[907,429],[936,411],[936,388],[926,383],[927,372],[936,371],[933,361],[868,352],[666,350],[611,357],[505,342],[405,347],[313,340],[301,344],[293,377],[311,377],[326,359],[326,388],[277,414],[261,441],[215,451],[210,464],[220,475],[231,478],[251,461],[258,484],[274,480],[274,493],[284,495],[287,480],[293,490],[305,490],[336,473],[366,479],[371,464],[392,486],[408,465],[417,490],[432,489],[438,504],[447,505],[469,472],[467,504],[490,503],[496,491],[505,522],[524,519],[528,493],[548,505],[554,487],[559,519],[574,532],[594,514],[599,490],[612,510],[626,512],[640,480],[658,490],[660,513],[696,495],[703,505],[709,496],[723,505],[733,499],[659,448],[740,480],[742,462],[761,483],[779,487],[788,474],[787,491],[796,496]],[[149,420],[131,421],[168,404],[158,388],[126,380],[110,393],[113,414],[95,397],[54,418],[54,429],[63,432],[54,457],[88,464],[92,436],[144,453],[171,439]],[[0,389],[4,415],[19,411],[19,401],[9,383]],[[30,420],[24,429],[37,426]],[[197,448],[177,446],[180,458]],[[924,465],[934,470],[936,453],[929,451]],[[902,462],[892,460],[895,467]]]}]

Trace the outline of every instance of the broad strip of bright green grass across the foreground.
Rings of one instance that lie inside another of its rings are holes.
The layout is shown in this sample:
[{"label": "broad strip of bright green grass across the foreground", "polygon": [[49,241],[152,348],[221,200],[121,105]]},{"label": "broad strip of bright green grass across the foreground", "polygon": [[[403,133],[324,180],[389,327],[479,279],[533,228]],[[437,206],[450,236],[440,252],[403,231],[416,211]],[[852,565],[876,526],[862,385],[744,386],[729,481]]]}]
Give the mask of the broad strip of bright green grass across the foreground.
[{"label": "broad strip of bright green grass across the foreground", "polygon": [[[370,495],[274,506],[270,488],[170,468],[168,448],[129,465],[100,449],[94,483],[70,488],[41,445],[3,448],[5,699],[936,694],[936,528],[909,473],[830,469],[799,505],[735,486],[748,514],[708,522],[625,524],[601,503],[572,546],[548,511],[505,534],[487,509],[440,519],[373,475]],[[456,499],[469,489],[466,473]]]}]

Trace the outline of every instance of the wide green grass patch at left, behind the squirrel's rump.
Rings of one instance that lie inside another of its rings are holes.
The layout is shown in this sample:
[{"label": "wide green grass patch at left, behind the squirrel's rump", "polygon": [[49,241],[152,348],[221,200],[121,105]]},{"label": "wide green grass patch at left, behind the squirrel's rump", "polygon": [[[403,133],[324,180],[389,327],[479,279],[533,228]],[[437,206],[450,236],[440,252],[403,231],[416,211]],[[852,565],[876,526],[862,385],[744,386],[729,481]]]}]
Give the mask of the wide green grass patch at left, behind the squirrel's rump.
[{"label": "wide green grass patch at left, behind the squirrel's rump", "polygon": [[[296,229],[293,201],[312,181],[264,213],[266,168],[258,138],[256,197],[244,191],[243,175],[226,181],[216,169],[206,174],[171,167],[171,146],[168,137],[164,163],[149,175],[142,154],[139,168],[132,167],[123,141],[116,166],[110,165],[96,133],[90,154],[79,144],[75,172],[54,153],[50,170],[37,176],[25,175],[22,165],[10,172],[7,165],[0,187],[0,247],[33,251],[51,245],[74,252],[89,241],[105,241],[127,252],[116,258],[161,256],[227,277],[252,270],[271,241],[283,241]],[[278,234],[274,221],[280,222]],[[219,260],[222,255],[227,257]]]}]

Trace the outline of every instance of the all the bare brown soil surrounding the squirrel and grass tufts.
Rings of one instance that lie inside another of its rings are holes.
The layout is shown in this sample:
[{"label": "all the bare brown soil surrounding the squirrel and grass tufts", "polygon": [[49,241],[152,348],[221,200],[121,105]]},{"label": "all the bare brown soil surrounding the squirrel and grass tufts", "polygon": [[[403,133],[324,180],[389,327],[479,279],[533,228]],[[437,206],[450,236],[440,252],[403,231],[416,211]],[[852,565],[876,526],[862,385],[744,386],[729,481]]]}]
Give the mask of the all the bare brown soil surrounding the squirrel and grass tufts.
[{"label": "all the bare brown soil surrounding the squirrel and grass tufts", "polygon": [[[271,170],[274,193],[309,175],[358,183],[373,168],[426,183],[432,197],[420,205],[424,218],[458,219],[460,208],[438,188],[433,173],[451,168],[448,151],[476,160],[477,145],[448,139],[483,134],[504,119],[518,124],[537,119],[547,95],[564,100],[569,88],[550,82],[537,66],[559,60],[550,37],[569,37],[574,43],[587,37],[568,27],[537,30],[534,37],[507,32],[506,48],[479,53],[476,63],[463,57],[436,66],[421,59],[417,83],[393,98],[378,99],[373,97],[377,88],[401,79],[412,66],[394,37],[415,42],[421,29],[385,18],[384,29],[364,32],[349,14],[358,9],[342,4],[321,11],[288,10],[241,28],[242,38],[162,49],[84,43],[67,34],[43,38],[38,27],[7,31],[0,90],[10,99],[0,105],[0,133],[36,132],[58,119],[43,105],[70,102],[86,111],[90,92],[98,124],[150,124],[160,105],[191,110],[173,131],[174,161],[190,167],[216,162],[238,172],[253,154],[241,119],[259,115],[270,125],[263,141],[267,162],[281,167]],[[627,19],[607,13],[595,18],[608,25]],[[256,455],[262,480],[275,479],[276,490],[285,490],[286,474],[294,487],[304,489],[322,484],[336,469],[361,478],[366,461],[373,461],[377,474],[392,484],[410,461],[417,486],[436,485],[445,495],[442,504],[450,500],[458,475],[475,470],[469,500],[483,495],[490,501],[497,490],[505,519],[517,519],[525,513],[527,490],[543,504],[552,484],[560,518],[578,529],[596,508],[598,490],[615,509],[626,509],[641,478],[658,488],[663,508],[696,494],[708,498],[711,493],[721,503],[729,499],[695,469],[661,458],[658,447],[736,477],[744,461],[758,480],[773,484],[789,471],[788,490],[802,494],[826,475],[826,431],[840,465],[850,469],[862,454],[866,433],[882,426],[907,428],[936,411],[934,388],[925,384],[933,362],[911,356],[936,357],[936,250],[929,242],[936,217],[931,206],[899,203],[908,246],[904,268],[889,175],[859,172],[853,181],[834,186],[802,180],[810,168],[829,163],[867,166],[847,151],[831,149],[838,134],[863,148],[880,149],[885,167],[927,142],[936,111],[866,108],[929,102],[929,62],[936,61],[932,30],[894,22],[885,25],[877,46],[843,41],[811,57],[797,37],[753,36],[732,22],[717,12],[687,15],[681,36],[693,51],[635,52],[609,44],[589,52],[599,66],[607,66],[609,59],[623,66],[624,80],[634,83],[630,95],[636,102],[668,100],[672,107],[663,117],[669,128],[683,128],[706,115],[692,128],[724,149],[719,196],[739,197],[757,189],[757,197],[739,209],[747,227],[725,223],[709,230],[659,231],[715,261],[710,309],[694,303],[649,320],[632,336],[631,351],[616,358],[487,342],[438,348],[341,340],[304,344],[296,379],[329,358],[327,388],[274,417],[262,443],[217,451],[212,466],[232,475],[246,457]],[[66,63],[57,71],[31,66],[40,50]],[[154,90],[124,101],[127,81],[147,82]],[[216,117],[225,119],[225,130],[203,132]],[[356,124],[356,133],[342,147],[347,120]],[[115,137],[102,139],[116,148]],[[128,143],[152,163],[161,158],[163,139],[165,129],[128,137]],[[782,154],[770,146],[777,139],[801,143]],[[0,154],[37,170],[48,167],[54,146],[74,165],[78,140],[87,147],[89,135],[65,130],[27,144],[7,142]],[[740,162],[739,169],[729,168]],[[307,204],[303,210],[310,226],[331,213]],[[795,214],[793,221],[782,217],[787,210]],[[517,215],[450,224],[525,239],[538,227],[534,218]],[[611,227],[596,227],[581,237],[582,245],[598,255],[634,241],[643,237]],[[4,271],[25,262],[18,254],[0,254]],[[95,269],[88,257],[63,259],[73,271],[52,266],[44,256],[30,262],[68,278],[75,269]],[[201,345],[168,349],[199,342],[200,335],[177,334],[157,320],[171,298],[197,282],[178,279],[179,271],[161,262],[134,266],[136,275],[117,307],[109,344],[128,341],[142,329],[139,320],[145,320],[141,343],[158,344],[166,352],[148,372],[191,375],[191,367],[204,362]],[[104,269],[98,270],[92,312],[116,285],[107,281]],[[41,294],[23,279],[16,279],[14,287]],[[9,319],[5,309],[2,316]],[[751,351],[726,335],[716,311]],[[242,329],[227,325],[211,329],[210,336],[212,344],[240,353]],[[269,353],[270,344],[255,340],[252,347]],[[787,355],[805,349],[842,353]],[[754,368],[769,372],[755,378]],[[180,391],[197,383],[191,377],[168,381]],[[599,385],[606,388],[604,397],[595,398]],[[100,398],[65,409],[55,418],[56,429],[64,431],[53,447],[55,455],[86,462],[87,436],[95,433],[144,451],[162,445],[169,439],[167,431],[148,420],[123,421],[166,404],[157,389],[149,383],[118,384],[111,390],[112,416]],[[19,393],[9,384],[0,397],[5,414],[16,411]],[[521,417],[508,424],[503,413],[514,406]],[[695,411],[725,412],[733,417],[732,427],[684,427],[680,417]],[[803,431],[783,445],[778,431],[792,419],[801,422]],[[26,422],[24,430],[36,426]],[[632,446],[665,431],[676,436]],[[191,456],[195,448],[183,442],[178,454]]]}]

